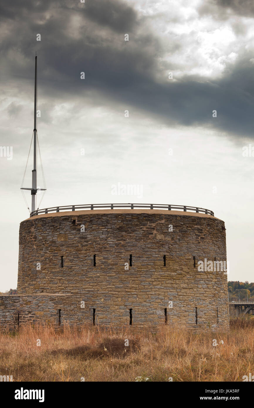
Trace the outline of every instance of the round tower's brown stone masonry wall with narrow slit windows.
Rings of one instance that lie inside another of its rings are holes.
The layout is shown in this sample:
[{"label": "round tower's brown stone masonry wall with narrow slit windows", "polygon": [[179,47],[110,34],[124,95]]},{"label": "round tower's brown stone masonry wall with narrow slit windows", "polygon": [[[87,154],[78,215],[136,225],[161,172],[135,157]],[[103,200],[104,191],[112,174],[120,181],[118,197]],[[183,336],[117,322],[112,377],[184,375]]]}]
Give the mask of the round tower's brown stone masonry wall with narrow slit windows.
[{"label": "round tower's brown stone masonry wall with narrow slit windows", "polygon": [[[166,309],[168,325],[227,329],[227,275],[199,272],[205,258],[226,260],[224,222],[210,215],[114,210],[32,217],[20,224],[18,307],[28,316],[26,298],[41,319],[61,308],[66,321],[90,324],[95,309],[96,324],[115,326],[129,324],[132,309],[140,327],[165,324]],[[52,300],[56,293],[65,295],[61,307]]]}]

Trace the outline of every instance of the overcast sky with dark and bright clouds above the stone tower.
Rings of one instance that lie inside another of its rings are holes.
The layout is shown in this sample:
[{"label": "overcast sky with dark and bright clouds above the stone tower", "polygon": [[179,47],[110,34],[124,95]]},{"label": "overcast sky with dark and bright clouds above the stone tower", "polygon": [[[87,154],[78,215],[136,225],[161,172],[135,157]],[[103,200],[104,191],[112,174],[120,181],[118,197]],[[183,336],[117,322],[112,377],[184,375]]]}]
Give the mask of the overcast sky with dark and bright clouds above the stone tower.
[{"label": "overcast sky with dark and bright clouds above the stone tower", "polygon": [[[0,146],[13,147],[12,160],[0,157],[0,291],[16,288],[29,217],[20,186],[35,51],[40,208],[211,209],[225,222],[228,280],[254,281],[254,157],[243,154],[254,150],[253,27],[252,0],[0,0]],[[24,187],[31,169],[29,160]],[[112,195],[118,182],[142,194]]]}]

